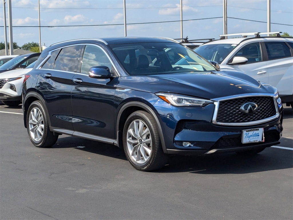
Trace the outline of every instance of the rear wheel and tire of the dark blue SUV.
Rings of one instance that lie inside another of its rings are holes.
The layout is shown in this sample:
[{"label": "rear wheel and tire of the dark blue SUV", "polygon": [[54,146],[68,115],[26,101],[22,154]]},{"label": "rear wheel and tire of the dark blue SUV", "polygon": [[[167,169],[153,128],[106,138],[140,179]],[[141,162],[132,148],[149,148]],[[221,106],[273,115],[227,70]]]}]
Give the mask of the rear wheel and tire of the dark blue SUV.
[{"label": "rear wheel and tire of the dark blue SUV", "polygon": [[39,148],[54,145],[58,136],[49,129],[48,116],[40,101],[34,101],[28,108],[26,127],[30,141]]}]

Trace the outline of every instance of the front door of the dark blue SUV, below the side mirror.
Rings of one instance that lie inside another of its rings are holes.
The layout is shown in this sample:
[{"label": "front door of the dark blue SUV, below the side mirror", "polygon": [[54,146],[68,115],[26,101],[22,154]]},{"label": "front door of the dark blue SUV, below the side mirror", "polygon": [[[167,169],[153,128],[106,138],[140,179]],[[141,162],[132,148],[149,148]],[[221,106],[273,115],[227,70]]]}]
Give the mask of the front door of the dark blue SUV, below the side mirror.
[{"label": "front door of the dark blue SUV, below the side mirror", "polygon": [[114,94],[117,79],[95,79],[89,68],[113,65],[105,51],[97,45],[86,45],[80,73],[72,79],[71,91],[74,131],[114,138]]}]

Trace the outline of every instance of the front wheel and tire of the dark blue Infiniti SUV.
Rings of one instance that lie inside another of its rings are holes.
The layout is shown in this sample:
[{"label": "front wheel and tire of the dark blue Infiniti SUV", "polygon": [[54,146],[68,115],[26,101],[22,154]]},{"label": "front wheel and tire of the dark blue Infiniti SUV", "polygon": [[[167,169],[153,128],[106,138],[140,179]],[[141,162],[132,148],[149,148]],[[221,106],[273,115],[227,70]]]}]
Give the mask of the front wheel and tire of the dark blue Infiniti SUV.
[{"label": "front wheel and tire of the dark blue Infiniti SUV", "polygon": [[157,170],[167,162],[158,126],[145,111],[135,111],[127,118],[123,129],[123,147],[127,160],[137,170]]}]

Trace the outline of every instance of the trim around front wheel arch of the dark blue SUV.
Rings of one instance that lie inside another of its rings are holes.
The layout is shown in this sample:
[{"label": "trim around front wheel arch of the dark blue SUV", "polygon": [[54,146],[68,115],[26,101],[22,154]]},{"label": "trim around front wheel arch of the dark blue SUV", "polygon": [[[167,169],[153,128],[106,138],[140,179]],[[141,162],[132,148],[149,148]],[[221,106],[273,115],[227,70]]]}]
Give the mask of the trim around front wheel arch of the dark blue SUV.
[{"label": "trim around front wheel arch of the dark blue SUV", "polygon": [[119,110],[118,114],[117,114],[117,122],[116,122],[116,141],[114,142],[115,145],[117,145],[119,147],[119,121],[120,121],[120,117],[123,113],[123,111],[125,109],[127,109],[128,107],[132,107],[132,106],[136,106],[136,107],[141,107],[142,109],[144,109],[145,111],[147,111],[156,121],[156,124],[158,126],[158,130],[159,130],[159,135],[161,138],[161,145],[163,148],[163,152],[164,153],[168,153],[167,149],[166,149],[166,144],[165,144],[165,140],[164,140],[164,136],[163,136],[163,131],[161,128],[161,124],[159,122],[159,119],[156,115],[156,113],[153,111],[153,109],[151,109],[151,107],[149,107],[147,104],[144,104],[142,102],[138,102],[138,101],[130,101],[125,103]]}]

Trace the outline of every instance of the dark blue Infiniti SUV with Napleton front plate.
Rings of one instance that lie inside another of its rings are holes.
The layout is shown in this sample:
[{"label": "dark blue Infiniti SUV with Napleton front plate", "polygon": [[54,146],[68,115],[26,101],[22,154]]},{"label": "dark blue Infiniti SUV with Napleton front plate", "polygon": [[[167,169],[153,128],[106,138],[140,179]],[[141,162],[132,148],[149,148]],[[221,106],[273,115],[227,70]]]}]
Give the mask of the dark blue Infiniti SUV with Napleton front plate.
[{"label": "dark blue Infiniti SUV with Napleton front plate", "polygon": [[42,51],[23,84],[36,147],[67,134],[124,148],[137,170],[168,154],[259,153],[279,144],[277,89],[218,71],[169,38],[69,40]]}]

